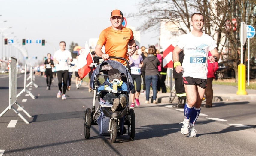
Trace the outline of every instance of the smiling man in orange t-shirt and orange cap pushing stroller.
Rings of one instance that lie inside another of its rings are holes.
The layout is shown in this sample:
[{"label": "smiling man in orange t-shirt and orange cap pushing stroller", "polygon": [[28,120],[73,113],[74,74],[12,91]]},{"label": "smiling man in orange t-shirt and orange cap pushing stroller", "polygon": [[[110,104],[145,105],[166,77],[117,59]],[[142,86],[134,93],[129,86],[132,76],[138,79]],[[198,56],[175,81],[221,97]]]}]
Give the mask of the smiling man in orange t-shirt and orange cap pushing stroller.
[{"label": "smiling man in orange t-shirt and orange cap pushing stroller", "polygon": [[[123,13],[120,10],[113,10],[111,12],[110,22],[112,26],[104,29],[99,35],[95,53],[103,59],[108,59],[109,56],[117,56],[128,60],[128,57],[132,56],[137,50],[133,31],[122,26]],[[103,45],[105,46],[105,53],[101,50]],[[130,51],[128,51],[128,46],[131,49]],[[113,60],[126,65],[124,60]]]}]

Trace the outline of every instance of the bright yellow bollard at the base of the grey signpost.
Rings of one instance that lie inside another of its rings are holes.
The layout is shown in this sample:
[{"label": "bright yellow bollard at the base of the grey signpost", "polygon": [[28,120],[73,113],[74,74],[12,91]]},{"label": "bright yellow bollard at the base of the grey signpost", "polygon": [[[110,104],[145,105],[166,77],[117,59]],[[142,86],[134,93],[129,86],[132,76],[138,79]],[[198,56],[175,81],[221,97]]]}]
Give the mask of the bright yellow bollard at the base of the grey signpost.
[{"label": "bright yellow bollard at the base of the grey signpost", "polygon": [[238,90],[236,92],[237,95],[246,95],[247,92],[245,90],[245,65],[238,65]]}]

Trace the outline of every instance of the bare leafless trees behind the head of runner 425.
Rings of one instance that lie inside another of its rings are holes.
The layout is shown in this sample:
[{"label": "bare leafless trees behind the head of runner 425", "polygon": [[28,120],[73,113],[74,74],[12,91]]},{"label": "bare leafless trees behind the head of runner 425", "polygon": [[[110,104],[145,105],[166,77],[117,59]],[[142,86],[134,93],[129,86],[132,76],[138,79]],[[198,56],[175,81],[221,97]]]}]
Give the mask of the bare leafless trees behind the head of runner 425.
[{"label": "bare leafless trees behind the head of runner 425", "polygon": [[[240,63],[237,52],[240,47],[240,22],[244,21],[247,25],[255,25],[256,1],[144,0],[138,4],[138,8],[140,8],[139,13],[132,13],[128,17],[141,18],[143,16],[145,21],[138,29],[142,32],[159,29],[160,22],[165,20],[173,22],[183,33],[188,33],[187,30],[191,31],[190,16],[195,12],[202,13],[205,18],[203,31],[215,39],[219,52],[224,52],[224,47],[226,47],[223,57],[232,63],[227,63],[225,66],[234,69],[237,81],[237,66]],[[182,27],[183,24],[186,25],[186,28]],[[255,45],[255,40],[252,45]],[[246,49],[246,46],[244,48]],[[255,50],[254,46],[251,51],[253,56],[256,54]]]}]

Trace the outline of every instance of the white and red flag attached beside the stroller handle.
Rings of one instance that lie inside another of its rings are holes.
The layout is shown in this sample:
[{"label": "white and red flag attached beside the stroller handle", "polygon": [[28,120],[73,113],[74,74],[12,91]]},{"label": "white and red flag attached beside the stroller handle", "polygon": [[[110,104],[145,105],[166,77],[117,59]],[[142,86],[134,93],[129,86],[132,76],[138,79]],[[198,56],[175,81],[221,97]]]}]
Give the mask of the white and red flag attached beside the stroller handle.
[{"label": "white and red flag attached beside the stroller handle", "polygon": [[88,43],[85,43],[84,52],[78,56],[77,60],[78,75],[80,78],[84,78],[90,71],[89,65],[93,62],[93,56],[91,54]]}]

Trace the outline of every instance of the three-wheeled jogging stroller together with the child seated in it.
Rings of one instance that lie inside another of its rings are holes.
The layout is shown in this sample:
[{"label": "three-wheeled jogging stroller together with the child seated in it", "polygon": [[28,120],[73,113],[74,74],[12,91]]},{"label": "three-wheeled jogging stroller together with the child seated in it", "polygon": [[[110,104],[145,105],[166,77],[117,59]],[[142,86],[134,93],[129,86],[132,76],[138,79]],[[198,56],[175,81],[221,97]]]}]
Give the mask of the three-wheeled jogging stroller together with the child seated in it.
[{"label": "three-wheeled jogging stroller together with the child seated in it", "polygon": [[[93,107],[85,110],[84,137],[89,139],[91,125],[98,125],[99,135],[110,135],[111,143],[114,143],[117,136],[125,134],[126,130],[129,139],[133,139],[135,136],[135,113],[128,107],[129,92],[134,84],[131,81],[128,60],[122,57],[109,58],[123,59],[127,65],[124,66],[114,60],[106,60],[94,69],[90,80],[90,87],[94,90]],[[113,80],[119,82],[117,88],[114,83],[114,89]],[[95,110],[96,98],[99,105]],[[114,109],[111,109],[112,107]],[[127,125],[127,129],[124,127],[125,125]]]}]

